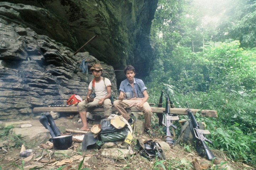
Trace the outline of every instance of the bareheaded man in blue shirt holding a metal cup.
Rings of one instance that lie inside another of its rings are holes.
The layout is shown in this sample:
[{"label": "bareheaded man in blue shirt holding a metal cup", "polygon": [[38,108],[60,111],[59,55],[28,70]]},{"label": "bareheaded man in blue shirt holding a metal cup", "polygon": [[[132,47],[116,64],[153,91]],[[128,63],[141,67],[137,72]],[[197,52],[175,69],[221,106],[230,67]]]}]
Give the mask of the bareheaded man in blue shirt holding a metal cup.
[{"label": "bareheaded man in blue shirt holding a metal cup", "polygon": [[135,106],[138,110],[143,112],[145,119],[145,131],[151,136],[156,136],[151,130],[151,117],[152,110],[147,102],[149,96],[146,91],[144,82],[141,79],[134,78],[135,68],[133,66],[127,66],[124,68],[124,74],[127,79],[121,82],[119,88],[119,100],[115,100],[113,105],[121,114],[124,119],[130,120],[130,115],[125,108]]}]

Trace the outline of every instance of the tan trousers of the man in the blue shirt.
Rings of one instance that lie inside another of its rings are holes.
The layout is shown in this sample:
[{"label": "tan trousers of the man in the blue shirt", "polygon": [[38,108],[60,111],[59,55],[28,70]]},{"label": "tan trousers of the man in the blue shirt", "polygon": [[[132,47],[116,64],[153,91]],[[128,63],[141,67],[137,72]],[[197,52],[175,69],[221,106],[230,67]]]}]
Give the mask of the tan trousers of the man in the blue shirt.
[{"label": "tan trousers of the man in the blue shirt", "polygon": [[113,105],[117,109],[118,113],[121,114],[126,120],[130,119],[130,115],[127,113],[125,109],[135,106],[138,110],[143,112],[144,119],[145,119],[145,128],[150,129],[152,110],[148,102],[145,102],[142,107],[138,107],[136,103],[141,102],[141,100],[142,100],[141,98],[132,99],[132,100],[115,100]]}]

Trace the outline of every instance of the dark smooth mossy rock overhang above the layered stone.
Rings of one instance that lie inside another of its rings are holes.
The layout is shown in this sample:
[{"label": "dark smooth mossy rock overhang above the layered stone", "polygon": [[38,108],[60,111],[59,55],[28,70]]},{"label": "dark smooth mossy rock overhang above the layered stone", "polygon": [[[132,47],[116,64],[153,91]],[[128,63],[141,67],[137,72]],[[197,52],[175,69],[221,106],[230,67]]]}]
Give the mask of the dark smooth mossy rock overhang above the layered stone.
[{"label": "dark smooth mossy rock overhang above the layered stone", "polygon": [[[149,34],[158,0],[6,0],[0,15],[33,29],[37,34],[76,51],[94,35],[81,52],[123,70],[133,65],[145,78],[153,65]],[[125,78],[116,72],[117,82]]]}]

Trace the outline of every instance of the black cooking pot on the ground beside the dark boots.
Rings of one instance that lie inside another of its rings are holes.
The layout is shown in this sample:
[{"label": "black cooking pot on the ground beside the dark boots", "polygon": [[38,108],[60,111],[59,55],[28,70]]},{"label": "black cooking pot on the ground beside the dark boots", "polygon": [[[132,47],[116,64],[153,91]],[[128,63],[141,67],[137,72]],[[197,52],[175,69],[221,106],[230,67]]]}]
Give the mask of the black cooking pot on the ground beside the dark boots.
[{"label": "black cooking pot on the ground beside the dark boots", "polygon": [[55,149],[66,150],[71,147],[73,135],[57,136],[53,138],[53,146]]}]

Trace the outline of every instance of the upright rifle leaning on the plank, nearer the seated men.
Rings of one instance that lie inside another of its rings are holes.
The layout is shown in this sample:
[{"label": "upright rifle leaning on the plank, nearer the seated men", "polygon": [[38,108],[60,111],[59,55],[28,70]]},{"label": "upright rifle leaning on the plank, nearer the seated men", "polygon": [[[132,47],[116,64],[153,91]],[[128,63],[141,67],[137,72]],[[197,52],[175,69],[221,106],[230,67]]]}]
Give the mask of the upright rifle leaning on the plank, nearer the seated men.
[{"label": "upright rifle leaning on the plank, nearer the seated men", "polygon": [[172,139],[172,135],[170,132],[170,126],[172,128],[177,129],[176,126],[172,124],[173,120],[178,120],[178,116],[172,116],[170,113],[170,98],[168,94],[168,90],[166,92],[166,103],[165,103],[165,114],[163,115],[162,124],[166,127],[166,143],[174,144],[175,141]]}]

